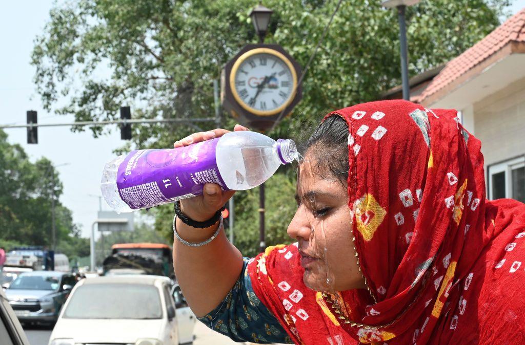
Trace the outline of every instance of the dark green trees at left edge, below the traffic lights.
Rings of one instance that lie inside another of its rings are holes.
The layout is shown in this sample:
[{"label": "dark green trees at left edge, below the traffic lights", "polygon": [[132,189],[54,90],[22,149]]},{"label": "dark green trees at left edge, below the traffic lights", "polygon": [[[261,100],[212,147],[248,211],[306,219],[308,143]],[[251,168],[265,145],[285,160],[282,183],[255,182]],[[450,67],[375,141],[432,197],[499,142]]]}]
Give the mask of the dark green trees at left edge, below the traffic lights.
[{"label": "dark green trees at left edge, below the traffic lights", "polygon": [[31,163],[24,149],[9,144],[0,130],[0,242],[51,247],[51,198],[55,199],[57,249],[72,241],[70,235],[76,233],[78,238],[71,211],[58,201],[61,193],[51,161],[40,158]]}]

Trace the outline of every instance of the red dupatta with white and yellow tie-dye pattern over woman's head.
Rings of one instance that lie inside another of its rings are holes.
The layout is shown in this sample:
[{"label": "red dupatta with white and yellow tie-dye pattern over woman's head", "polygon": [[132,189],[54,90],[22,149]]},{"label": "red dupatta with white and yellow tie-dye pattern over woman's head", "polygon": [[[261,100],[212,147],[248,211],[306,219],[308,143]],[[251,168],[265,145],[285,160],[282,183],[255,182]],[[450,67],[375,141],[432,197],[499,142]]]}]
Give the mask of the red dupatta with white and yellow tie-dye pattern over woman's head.
[{"label": "red dupatta with white and yellow tie-dye pattern over woman's head", "polygon": [[[488,265],[497,272],[508,241],[525,236],[525,207],[486,202],[480,142],[456,115],[407,101],[364,103],[327,115],[349,125],[349,231],[369,291],[314,292],[302,282],[297,247],[269,247],[248,265],[248,274],[294,342],[499,339],[480,326],[489,320],[478,315],[484,298],[497,298],[489,296],[484,277]],[[521,277],[511,282],[525,283]],[[514,299],[521,307],[513,315],[523,320],[525,300]],[[516,334],[507,343],[517,343],[519,327]]]}]

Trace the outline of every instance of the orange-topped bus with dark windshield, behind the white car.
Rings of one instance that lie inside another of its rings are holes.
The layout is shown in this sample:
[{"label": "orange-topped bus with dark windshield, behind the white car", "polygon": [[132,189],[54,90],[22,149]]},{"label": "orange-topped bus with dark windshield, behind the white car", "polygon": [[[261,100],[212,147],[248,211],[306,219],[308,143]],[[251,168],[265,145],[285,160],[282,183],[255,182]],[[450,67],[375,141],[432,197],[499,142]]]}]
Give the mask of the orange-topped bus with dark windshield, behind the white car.
[{"label": "orange-topped bus with dark windshield, behind the white car", "polygon": [[104,274],[111,269],[140,269],[146,274],[174,278],[172,249],[162,243],[118,243],[104,262]]}]

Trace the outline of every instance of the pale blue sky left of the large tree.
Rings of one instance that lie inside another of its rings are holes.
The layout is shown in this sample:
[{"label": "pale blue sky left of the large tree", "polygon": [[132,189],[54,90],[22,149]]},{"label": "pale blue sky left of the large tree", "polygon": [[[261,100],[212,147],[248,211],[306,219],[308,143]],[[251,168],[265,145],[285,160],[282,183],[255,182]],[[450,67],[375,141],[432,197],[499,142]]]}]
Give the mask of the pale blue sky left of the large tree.
[{"label": "pale blue sky left of the large tree", "polygon": [[[33,39],[49,20],[52,5],[51,0],[0,1],[0,124],[25,124],[27,110],[38,112],[39,123],[74,121],[45,112],[32,81]],[[510,9],[516,13],[523,7],[525,0],[515,0]],[[68,164],[57,168],[64,184],[60,201],[73,211],[82,235],[89,237],[99,209],[102,168],[114,158],[112,151],[124,143],[120,132],[95,139],[90,132],[72,133],[68,127],[41,127],[37,145],[27,144],[25,128],[6,132],[9,142],[22,145],[32,161],[45,156],[56,166]],[[102,209],[109,210],[103,200]]]}]

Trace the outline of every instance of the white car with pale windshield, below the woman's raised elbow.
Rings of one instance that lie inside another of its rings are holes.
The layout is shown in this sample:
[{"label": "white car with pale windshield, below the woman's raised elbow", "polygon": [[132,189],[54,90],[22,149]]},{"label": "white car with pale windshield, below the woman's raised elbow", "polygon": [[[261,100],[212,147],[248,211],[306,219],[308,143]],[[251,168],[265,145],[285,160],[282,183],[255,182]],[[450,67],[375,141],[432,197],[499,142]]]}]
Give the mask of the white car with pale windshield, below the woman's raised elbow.
[{"label": "white car with pale windshield, below the woman's raised elbow", "polygon": [[82,279],[62,308],[49,345],[191,343],[195,316],[178,319],[189,308],[175,311],[171,288],[171,279],[162,276]]}]

